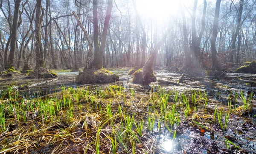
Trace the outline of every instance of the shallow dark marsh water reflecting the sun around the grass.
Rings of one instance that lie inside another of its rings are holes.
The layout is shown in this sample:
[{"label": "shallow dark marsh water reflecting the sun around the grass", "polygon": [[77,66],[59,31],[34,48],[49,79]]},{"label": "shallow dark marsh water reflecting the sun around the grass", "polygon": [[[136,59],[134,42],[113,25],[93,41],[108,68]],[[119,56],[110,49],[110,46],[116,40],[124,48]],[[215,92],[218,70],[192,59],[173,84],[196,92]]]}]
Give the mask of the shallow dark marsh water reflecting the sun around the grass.
[{"label": "shallow dark marsh water reflecting the sun around the grass", "polygon": [[[148,148],[153,148],[156,154],[256,153],[256,74],[226,73],[225,76],[217,77],[202,74],[195,75],[194,78],[185,76],[184,81],[179,86],[174,86],[158,82],[149,85],[133,84],[132,76],[127,75],[127,70],[112,72],[119,75],[120,81],[108,84],[81,85],[75,83],[76,75],[79,72],[65,72],[57,73],[59,76],[57,79],[20,82],[16,84],[15,88],[22,93],[24,99],[58,93],[61,91],[61,87],[72,87],[74,89],[87,87],[88,89],[95,89],[97,87],[105,89],[109,85],[121,86],[125,88],[125,91],[133,90],[141,97],[152,92],[169,92],[170,102],[174,102],[176,95],[172,93],[174,91],[178,92],[178,98],[181,97],[180,93],[186,93],[187,95],[195,91],[205,93],[209,99],[207,108],[198,107],[197,112],[191,115],[191,119],[182,120],[180,125],[174,126],[175,133],[166,129],[163,121],[160,120],[155,120],[153,130],[148,132],[148,124],[145,122],[143,130],[147,133],[141,140],[148,144]],[[168,70],[156,70],[154,73],[157,79],[175,83],[179,81],[181,76],[180,73],[171,73]],[[215,123],[211,122],[211,118],[207,117],[208,114],[213,114],[216,106],[227,110],[226,106],[230,98],[236,98],[236,101],[231,101],[233,106],[241,106],[243,104],[241,94],[244,95],[246,100],[250,97],[251,112],[240,115],[230,113],[226,130],[220,129]],[[150,106],[147,110],[150,110],[149,108]],[[140,111],[136,110],[136,112],[139,113]],[[134,119],[136,120],[136,118]],[[199,126],[195,123],[192,124],[195,119],[200,123]],[[230,147],[227,147],[227,139],[239,148],[230,148],[232,144],[228,144]],[[136,144],[137,149],[141,146],[145,146],[145,144]],[[140,153],[140,151],[137,151],[137,153]]]}]

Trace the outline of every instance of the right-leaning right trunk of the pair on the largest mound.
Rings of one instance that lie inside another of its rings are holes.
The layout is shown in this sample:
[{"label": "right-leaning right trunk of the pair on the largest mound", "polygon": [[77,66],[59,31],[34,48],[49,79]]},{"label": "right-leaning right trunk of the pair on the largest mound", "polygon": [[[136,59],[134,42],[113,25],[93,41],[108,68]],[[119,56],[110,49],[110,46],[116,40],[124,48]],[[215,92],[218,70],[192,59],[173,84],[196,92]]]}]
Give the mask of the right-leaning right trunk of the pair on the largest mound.
[{"label": "right-leaning right trunk of the pair on the largest mound", "polygon": [[[95,67],[97,69],[101,69],[102,64],[103,64],[103,54],[104,54],[104,49],[105,49],[105,46],[106,46],[106,39],[107,39],[107,34],[108,34],[108,25],[109,25],[109,21],[110,21],[110,17],[111,17],[112,7],[113,7],[113,0],[108,0],[107,14],[106,14],[105,22],[104,22],[104,26],[103,26],[102,38],[101,38],[101,42],[100,42],[98,57],[96,59],[96,64],[95,64]],[[93,20],[94,20],[94,18],[95,17],[94,17],[94,14],[93,14]],[[94,22],[93,22],[93,26],[94,26]]]}]

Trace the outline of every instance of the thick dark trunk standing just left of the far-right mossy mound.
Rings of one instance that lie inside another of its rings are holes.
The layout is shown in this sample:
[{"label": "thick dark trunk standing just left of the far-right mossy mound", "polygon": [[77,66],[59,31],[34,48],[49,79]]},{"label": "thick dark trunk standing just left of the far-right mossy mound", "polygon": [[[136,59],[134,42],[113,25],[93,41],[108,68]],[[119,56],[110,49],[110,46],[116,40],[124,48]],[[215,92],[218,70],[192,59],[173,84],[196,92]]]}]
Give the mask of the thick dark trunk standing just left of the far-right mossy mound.
[{"label": "thick dark trunk standing just left of the far-right mossy mound", "polygon": [[218,34],[218,18],[220,13],[221,0],[217,0],[215,7],[215,15],[212,28],[212,40],[211,40],[211,51],[212,51],[212,70],[218,70],[217,50],[216,50],[216,38]]}]

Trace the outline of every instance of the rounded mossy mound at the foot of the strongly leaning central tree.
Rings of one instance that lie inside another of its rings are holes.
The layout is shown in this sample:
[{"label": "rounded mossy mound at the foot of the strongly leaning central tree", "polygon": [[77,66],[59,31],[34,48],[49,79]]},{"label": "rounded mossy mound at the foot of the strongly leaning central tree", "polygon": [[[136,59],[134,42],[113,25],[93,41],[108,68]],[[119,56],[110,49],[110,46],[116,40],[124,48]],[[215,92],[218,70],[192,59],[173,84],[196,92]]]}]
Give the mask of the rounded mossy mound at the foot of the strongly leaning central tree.
[{"label": "rounded mossy mound at the foot of the strongly leaning central tree", "polygon": [[[144,67],[143,67],[144,68]],[[149,84],[157,81],[156,76],[153,74],[153,70],[148,71],[146,69],[139,69],[134,73],[132,82],[136,84]]]}]

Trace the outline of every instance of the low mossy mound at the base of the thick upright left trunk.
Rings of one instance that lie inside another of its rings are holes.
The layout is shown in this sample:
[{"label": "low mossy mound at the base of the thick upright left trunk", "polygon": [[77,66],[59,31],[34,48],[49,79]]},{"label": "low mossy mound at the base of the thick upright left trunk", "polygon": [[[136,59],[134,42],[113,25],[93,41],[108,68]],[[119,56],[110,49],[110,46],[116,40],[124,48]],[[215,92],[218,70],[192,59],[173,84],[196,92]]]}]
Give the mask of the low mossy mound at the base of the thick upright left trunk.
[{"label": "low mossy mound at the base of the thick upright left trunk", "polygon": [[48,72],[45,68],[38,68],[28,72],[30,78],[58,78],[56,73]]}]

